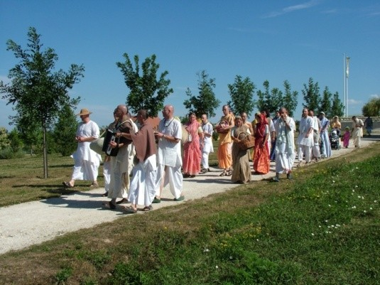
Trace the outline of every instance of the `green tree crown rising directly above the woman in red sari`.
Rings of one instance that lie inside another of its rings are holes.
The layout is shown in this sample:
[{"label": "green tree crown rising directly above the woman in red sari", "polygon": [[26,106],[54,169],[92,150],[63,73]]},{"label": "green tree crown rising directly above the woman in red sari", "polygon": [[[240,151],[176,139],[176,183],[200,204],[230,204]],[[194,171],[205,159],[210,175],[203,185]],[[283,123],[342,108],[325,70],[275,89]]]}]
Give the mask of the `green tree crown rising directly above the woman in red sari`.
[{"label": "green tree crown rising directly above the woman in red sari", "polygon": [[270,89],[268,80],[264,81],[263,86],[264,91],[257,92],[257,109],[268,110],[271,113],[278,111],[283,106],[283,92],[277,87]]}]

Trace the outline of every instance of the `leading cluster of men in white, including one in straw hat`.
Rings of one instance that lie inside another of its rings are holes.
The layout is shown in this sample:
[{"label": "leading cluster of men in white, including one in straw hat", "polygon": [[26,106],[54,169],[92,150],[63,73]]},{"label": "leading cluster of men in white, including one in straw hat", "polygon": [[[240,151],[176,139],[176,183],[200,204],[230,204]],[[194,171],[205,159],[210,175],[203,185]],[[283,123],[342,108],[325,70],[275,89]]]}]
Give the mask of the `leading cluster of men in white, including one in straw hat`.
[{"label": "leading cluster of men in white, including one in straw hat", "polygon": [[[116,107],[115,120],[109,125],[114,136],[109,147],[116,150],[116,155],[106,156],[107,163],[104,164],[104,188],[107,191],[104,196],[110,199],[104,204],[107,208],[114,210],[118,204],[131,203],[128,207],[123,206],[126,213],[136,213],[138,205],[144,205],[143,211],[151,210],[152,203],[161,203],[165,185],[169,185],[173,200],[185,198],[180,149],[182,127],[173,113],[173,106],[166,105],[163,119],[155,131],[148,124],[146,110],[137,112],[136,124],[126,105]],[[92,151],[89,144],[99,139],[99,127],[89,119],[89,114],[92,113],[88,109],[77,114],[82,122],[77,129],[77,151],[72,156],[75,159],[72,179],[63,182],[67,188],[74,187],[75,180],[89,180],[91,186],[98,186],[101,156]]]}]

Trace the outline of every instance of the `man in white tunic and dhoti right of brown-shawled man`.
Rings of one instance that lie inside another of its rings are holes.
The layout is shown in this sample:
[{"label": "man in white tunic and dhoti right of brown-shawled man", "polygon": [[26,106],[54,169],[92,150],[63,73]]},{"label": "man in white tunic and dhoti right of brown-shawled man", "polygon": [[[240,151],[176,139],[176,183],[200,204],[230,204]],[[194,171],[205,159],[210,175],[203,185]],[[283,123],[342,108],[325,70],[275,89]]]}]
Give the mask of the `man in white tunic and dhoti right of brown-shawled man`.
[{"label": "man in white tunic and dhoti right of brown-shawled man", "polygon": [[158,124],[158,169],[156,183],[156,198],[153,203],[161,203],[161,193],[165,185],[170,186],[170,192],[175,201],[185,198],[182,195],[183,175],[181,173],[182,158],[180,140],[182,139],[182,127],[174,118],[172,105],[163,107],[163,119]]}]

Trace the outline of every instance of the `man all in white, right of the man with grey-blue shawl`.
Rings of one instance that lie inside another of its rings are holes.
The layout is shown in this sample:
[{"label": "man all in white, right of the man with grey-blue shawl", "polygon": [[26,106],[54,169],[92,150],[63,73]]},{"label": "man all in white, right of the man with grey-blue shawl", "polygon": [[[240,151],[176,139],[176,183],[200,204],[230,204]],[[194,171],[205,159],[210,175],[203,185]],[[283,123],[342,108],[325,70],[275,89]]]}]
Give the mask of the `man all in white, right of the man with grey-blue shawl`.
[{"label": "man all in white, right of the man with grey-blue shawl", "polygon": [[303,108],[300,120],[300,134],[298,135],[298,161],[303,163],[303,154],[305,154],[305,162],[311,161],[311,148],[314,145],[313,139],[313,119],[309,117],[309,110]]}]

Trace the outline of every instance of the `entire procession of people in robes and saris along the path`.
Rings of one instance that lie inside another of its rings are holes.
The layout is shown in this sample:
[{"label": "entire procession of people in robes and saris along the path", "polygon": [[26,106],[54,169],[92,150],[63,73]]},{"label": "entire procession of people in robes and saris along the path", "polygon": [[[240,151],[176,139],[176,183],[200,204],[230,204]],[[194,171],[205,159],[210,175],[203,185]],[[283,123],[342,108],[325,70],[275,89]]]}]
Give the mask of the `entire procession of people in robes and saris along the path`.
[{"label": "entire procession of people in robes and saris along the path", "polygon": [[[196,115],[191,113],[188,122],[182,125],[174,117],[173,106],[168,104],[163,108],[163,119],[158,128],[153,129],[148,124],[146,110],[139,110],[134,122],[126,105],[117,106],[114,122],[108,127],[114,136],[109,141],[114,154],[104,157],[104,196],[110,199],[105,203],[107,208],[116,209],[118,204],[131,203],[129,207],[123,207],[127,213],[136,213],[138,205],[143,205],[144,211],[151,210],[153,203],[161,203],[161,193],[166,185],[169,185],[173,200],[184,200],[183,178],[194,178],[210,171],[213,131],[219,135],[217,158],[222,169],[219,176],[231,176],[234,183],[251,181],[251,159],[254,173],[268,173],[270,161],[275,161],[273,181],[280,181],[281,173],[291,179],[296,157],[295,142],[300,164],[331,156],[330,121],[324,112],[317,117],[313,110],[303,109],[297,141],[295,121],[284,107],[273,118],[267,111],[258,112],[253,122],[247,121],[245,112],[235,116],[228,105],[222,107],[222,112],[214,130],[207,114],[202,114],[201,122],[198,122]],[[102,158],[90,149],[90,144],[100,135],[99,127],[89,119],[89,114],[92,113],[88,109],[77,114],[82,122],[75,136],[78,146],[72,155],[75,160],[72,178],[63,182],[67,188],[74,187],[75,180],[89,180],[92,181],[91,187],[98,186],[98,167]],[[352,131],[348,132],[357,147],[363,126],[362,120],[352,117]],[[340,131],[337,117],[331,127]],[[251,137],[254,138],[251,149],[241,144]]]}]

